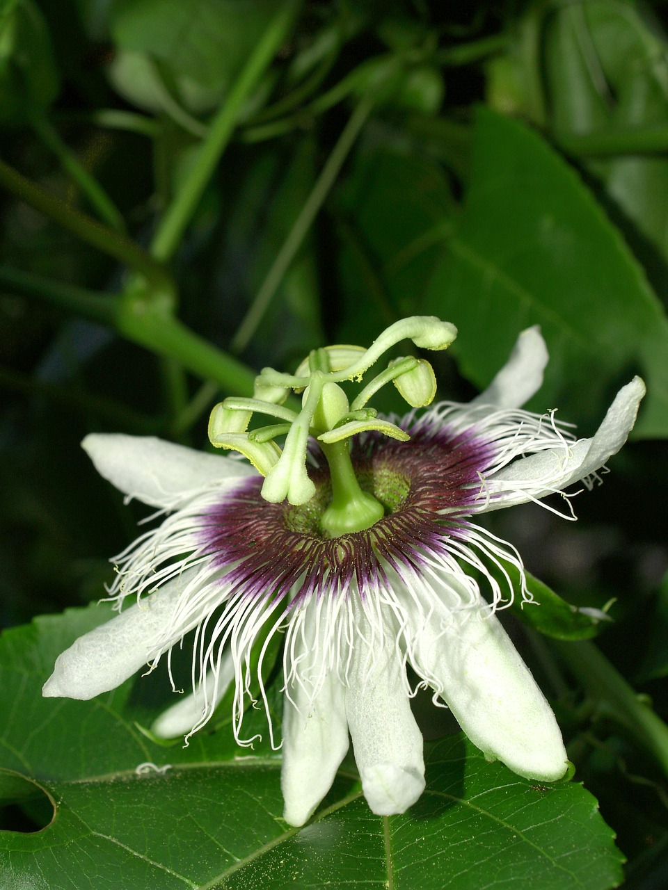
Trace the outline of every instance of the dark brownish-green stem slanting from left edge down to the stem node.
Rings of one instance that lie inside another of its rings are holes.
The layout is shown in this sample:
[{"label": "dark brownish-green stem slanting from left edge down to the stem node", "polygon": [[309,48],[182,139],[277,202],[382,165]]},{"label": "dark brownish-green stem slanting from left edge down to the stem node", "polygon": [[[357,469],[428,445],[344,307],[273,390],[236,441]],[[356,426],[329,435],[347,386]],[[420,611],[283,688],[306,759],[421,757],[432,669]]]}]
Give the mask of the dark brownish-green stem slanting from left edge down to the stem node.
[{"label": "dark brownish-green stem slanting from left edge down to the stem node", "polygon": [[3,160],[0,160],[0,185],[4,185],[17,198],[35,207],[63,228],[69,229],[82,241],[97,247],[104,254],[113,256],[129,269],[139,272],[154,292],[168,294],[174,298],[175,286],[167,270],[125,235],[99,223],[92,216],[82,214],[80,210],[69,206],[61,198],[56,198],[35,182],[30,182]]}]

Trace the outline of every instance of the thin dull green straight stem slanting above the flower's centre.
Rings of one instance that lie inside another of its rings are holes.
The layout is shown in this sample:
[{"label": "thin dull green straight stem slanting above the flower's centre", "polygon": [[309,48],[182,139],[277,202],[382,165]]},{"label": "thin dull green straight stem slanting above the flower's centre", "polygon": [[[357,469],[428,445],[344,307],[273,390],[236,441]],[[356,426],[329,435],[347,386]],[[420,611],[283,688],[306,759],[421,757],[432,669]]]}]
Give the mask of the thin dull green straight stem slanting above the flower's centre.
[{"label": "thin dull green straight stem slanting above the flower's centre", "polygon": [[320,176],[315,181],[311,194],[306,198],[305,204],[289,231],[288,237],[283,242],[281,250],[276,255],[270,270],[266,273],[265,280],[260,285],[253,303],[250,304],[248,312],[241,321],[236,334],[232,337],[232,343],[230,344],[232,352],[243,352],[253,338],[269,304],[273,300],[273,296],[289,269],[290,263],[297,255],[299,247],[302,246],[306,234],[314,223],[315,216],[330,193],[330,189],[336,181],[348,152],[352,149],[354,141],[367,117],[369,117],[372,108],[373,101],[371,99],[363,99],[349,117],[346,126],[338,137],[338,142],[331,150],[330,157],[327,158],[325,166],[322,167]]}]

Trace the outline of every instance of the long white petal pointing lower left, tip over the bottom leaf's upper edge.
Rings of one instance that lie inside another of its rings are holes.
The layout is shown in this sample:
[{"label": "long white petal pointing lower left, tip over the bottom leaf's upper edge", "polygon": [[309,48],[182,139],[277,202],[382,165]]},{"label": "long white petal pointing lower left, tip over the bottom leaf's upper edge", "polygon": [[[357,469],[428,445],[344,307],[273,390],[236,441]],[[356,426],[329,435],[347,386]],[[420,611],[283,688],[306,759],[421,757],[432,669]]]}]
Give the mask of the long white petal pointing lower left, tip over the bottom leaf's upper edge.
[{"label": "long white petal pointing lower left, tip over the bottom leaf's upper edge", "polygon": [[56,659],[53,674],[42,694],[47,698],[62,696],[88,700],[124,683],[171,643],[175,643],[197,623],[180,628],[174,640],[156,648],[190,573],[167,583],[160,590],[134,603],[100,627],[80,636]]}]

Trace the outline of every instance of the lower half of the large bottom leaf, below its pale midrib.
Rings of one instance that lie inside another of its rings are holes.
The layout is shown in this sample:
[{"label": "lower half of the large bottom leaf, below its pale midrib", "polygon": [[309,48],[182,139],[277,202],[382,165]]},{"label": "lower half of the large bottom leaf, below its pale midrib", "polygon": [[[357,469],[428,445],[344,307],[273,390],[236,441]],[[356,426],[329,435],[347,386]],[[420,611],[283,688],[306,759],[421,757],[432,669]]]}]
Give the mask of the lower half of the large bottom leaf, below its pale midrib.
[{"label": "lower half of the large bottom leaf, below its pale midrib", "polygon": [[304,829],[281,820],[275,762],[45,782],[56,815],[39,833],[0,835],[0,875],[35,890],[617,883],[612,832],[580,786],[529,785],[460,736],[434,748],[428,769],[411,813],[374,816],[359,791],[346,794],[352,781],[341,781],[338,800]]}]

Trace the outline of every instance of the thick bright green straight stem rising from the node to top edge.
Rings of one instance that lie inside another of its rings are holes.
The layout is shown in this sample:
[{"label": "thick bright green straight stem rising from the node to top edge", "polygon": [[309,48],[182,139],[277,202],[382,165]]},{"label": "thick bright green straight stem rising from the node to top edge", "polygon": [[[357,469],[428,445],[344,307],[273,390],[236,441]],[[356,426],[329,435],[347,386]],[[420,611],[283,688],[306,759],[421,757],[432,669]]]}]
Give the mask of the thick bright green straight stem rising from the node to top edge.
[{"label": "thick bright green straight stem rising from the node to top edge", "polygon": [[279,11],[270,21],[265,34],[232,86],[223,107],[211,121],[191,172],[183,181],[174,201],[167,207],[153,238],[151,255],[157,260],[167,262],[181,243],[183,232],[191,221],[202,192],[230,142],[240,110],[280,49],[296,12],[297,4],[294,0],[280,5]]}]

